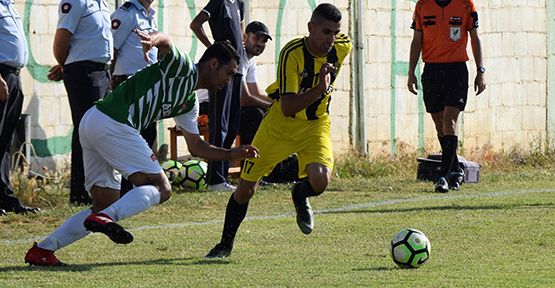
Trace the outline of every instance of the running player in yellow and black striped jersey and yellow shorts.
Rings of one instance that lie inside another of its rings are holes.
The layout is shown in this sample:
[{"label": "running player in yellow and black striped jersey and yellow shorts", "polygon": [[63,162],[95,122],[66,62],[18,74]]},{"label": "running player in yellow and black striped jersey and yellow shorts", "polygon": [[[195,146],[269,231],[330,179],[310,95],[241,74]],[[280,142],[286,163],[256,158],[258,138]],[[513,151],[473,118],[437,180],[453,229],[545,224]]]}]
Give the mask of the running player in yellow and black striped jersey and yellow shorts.
[{"label": "running player in yellow and black striped jersey and yellow shorts", "polygon": [[332,4],[316,7],[308,31],[308,37],[292,40],[280,52],[277,81],[267,89],[275,101],[253,140],[260,158],[245,160],[241,182],[227,204],[221,241],[205,258],[231,254],[258,181],[293,153],[299,158],[299,178],[304,178],[291,192],[297,224],[303,233],[312,232],[314,220],[307,197],[324,192],[331,177],[329,105],[333,83],[352,45],[339,33],[341,12]]}]

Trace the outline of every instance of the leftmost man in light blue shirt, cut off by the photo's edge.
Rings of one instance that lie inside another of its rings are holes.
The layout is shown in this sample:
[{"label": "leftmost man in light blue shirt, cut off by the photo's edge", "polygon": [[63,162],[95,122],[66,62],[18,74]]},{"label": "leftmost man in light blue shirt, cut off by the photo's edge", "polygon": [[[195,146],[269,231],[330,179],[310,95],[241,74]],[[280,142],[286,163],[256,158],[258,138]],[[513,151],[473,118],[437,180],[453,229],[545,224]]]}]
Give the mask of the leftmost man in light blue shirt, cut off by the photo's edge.
[{"label": "leftmost man in light blue shirt, cut off by the photo's edge", "polygon": [[35,213],[21,204],[10,184],[10,143],[23,108],[20,69],[27,64],[21,18],[11,0],[0,0],[0,216],[7,211]]}]

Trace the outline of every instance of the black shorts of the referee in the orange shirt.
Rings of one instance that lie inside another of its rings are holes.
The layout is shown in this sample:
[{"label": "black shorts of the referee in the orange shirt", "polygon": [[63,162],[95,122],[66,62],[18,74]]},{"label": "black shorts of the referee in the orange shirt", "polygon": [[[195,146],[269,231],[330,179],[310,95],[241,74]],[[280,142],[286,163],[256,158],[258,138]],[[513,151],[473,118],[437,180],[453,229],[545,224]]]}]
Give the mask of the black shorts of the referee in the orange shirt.
[{"label": "black shorts of the referee in the orange shirt", "polygon": [[464,111],[468,94],[466,62],[426,63],[422,89],[426,112],[441,112],[445,106]]}]

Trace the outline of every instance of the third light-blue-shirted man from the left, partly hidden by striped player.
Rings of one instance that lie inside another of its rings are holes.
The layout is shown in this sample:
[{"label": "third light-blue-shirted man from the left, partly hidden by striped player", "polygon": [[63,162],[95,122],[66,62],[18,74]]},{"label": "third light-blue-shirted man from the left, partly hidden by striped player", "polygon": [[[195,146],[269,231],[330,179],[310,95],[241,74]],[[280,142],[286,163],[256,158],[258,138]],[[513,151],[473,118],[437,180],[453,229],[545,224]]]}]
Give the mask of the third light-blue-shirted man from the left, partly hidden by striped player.
[{"label": "third light-blue-shirted man from the left, partly hidden by striped player", "polygon": [[[156,62],[158,49],[153,47],[145,59],[141,39],[133,30],[146,33],[158,31],[154,17],[154,9],[149,0],[129,0],[112,13],[112,35],[114,36],[114,59],[112,60],[112,90],[135,72],[148,64]],[[141,136],[152,148],[156,141],[156,122],[141,131]],[[121,194],[131,190],[133,185],[127,179],[121,181]]]}]

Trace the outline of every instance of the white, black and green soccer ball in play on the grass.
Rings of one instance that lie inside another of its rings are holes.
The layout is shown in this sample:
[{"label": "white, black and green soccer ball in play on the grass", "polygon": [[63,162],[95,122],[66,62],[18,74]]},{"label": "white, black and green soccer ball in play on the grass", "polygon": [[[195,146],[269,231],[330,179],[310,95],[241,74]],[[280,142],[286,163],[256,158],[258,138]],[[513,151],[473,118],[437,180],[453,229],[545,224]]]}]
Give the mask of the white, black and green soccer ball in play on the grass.
[{"label": "white, black and green soccer ball in play on the grass", "polygon": [[391,257],[401,268],[418,268],[430,259],[432,246],[424,233],[402,229],[391,240]]}]

